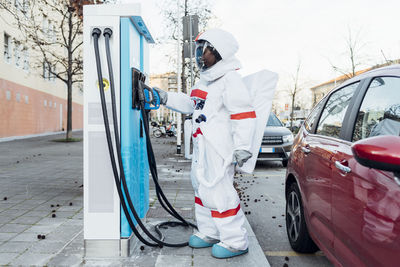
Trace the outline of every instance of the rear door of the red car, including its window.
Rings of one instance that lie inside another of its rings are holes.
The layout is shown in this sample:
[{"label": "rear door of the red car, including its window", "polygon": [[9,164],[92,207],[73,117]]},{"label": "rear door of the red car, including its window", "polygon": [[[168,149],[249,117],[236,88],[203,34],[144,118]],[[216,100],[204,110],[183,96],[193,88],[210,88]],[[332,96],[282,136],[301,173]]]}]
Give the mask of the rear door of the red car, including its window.
[{"label": "rear door of the red car, including its window", "polygon": [[358,87],[358,82],[334,91],[326,101],[316,125],[315,134],[304,138],[305,186],[310,232],[320,246],[333,253],[332,226],[332,158],[341,140],[341,128],[347,108]]}]

